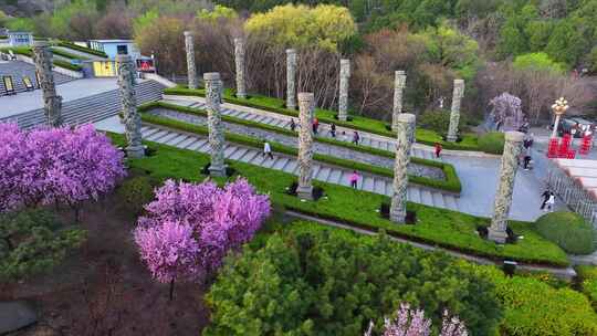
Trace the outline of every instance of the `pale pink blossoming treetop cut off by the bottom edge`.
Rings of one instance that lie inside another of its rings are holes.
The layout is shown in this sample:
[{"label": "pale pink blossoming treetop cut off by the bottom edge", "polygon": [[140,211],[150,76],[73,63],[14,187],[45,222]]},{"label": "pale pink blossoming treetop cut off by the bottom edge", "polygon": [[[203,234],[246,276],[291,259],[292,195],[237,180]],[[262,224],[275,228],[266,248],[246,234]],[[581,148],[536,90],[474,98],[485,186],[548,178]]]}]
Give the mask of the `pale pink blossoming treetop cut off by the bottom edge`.
[{"label": "pale pink blossoming treetop cut off by the bottom edge", "polygon": [[[365,332],[365,336],[371,336],[373,322]],[[409,304],[400,304],[394,318],[384,319],[383,336],[429,336],[431,335],[431,319],[425,317],[422,309],[412,309]],[[441,332],[439,336],[468,336],[464,323],[458,317],[450,317],[448,311],[443,312]]]}]

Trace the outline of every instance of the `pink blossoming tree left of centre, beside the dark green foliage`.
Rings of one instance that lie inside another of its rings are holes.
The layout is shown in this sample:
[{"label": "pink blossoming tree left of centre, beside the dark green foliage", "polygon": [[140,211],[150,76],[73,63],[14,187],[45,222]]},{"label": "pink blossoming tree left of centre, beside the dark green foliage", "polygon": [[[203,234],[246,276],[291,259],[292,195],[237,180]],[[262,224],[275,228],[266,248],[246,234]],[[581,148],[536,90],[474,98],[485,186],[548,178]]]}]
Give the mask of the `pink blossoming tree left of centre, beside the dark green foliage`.
[{"label": "pink blossoming tree left of centre, beside the dark green foliage", "polygon": [[[145,210],[147,216],[139,218],[134,231],[135,241],[154,279],[169,282],[171,293],[176,279],[195,281],[210,274],[230,250],[250,241],[270,214],[270,200],[242,178],[224,188],[167,180]],[[186,240],[174,246],[155,243],[160,237],[167,240],[164,227],[171,230],[171,223],[189,228],[193,244]],[[190,261],[192,267],[179,266]]]}]

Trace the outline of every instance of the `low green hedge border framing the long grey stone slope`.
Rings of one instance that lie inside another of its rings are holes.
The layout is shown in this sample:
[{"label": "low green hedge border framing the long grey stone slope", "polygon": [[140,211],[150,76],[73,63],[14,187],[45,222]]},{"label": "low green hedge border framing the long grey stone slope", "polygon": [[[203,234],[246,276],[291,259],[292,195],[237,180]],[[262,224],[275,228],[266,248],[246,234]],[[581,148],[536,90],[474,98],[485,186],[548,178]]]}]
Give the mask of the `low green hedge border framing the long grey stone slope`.
[{"label": "low green hedge border framing the long grey stone slope", "polygon": [[[143,114],[143,112],[150,111],[151,108],[156,108],[156,107],[164,107],[164,108],[175,109],[175,111],[178,111],[178,112],[181,112],[181,113],[195,114],[195,115],[199,115],[199,116],[203,116],[203,117],[207,116],[206,111],[185,107],[185,106],[179,106],[179,105],[174,105],[174,104],[167,104],[167,103],[161,103],[161,102],[149,103],[149,104],[143,105],[143,106],[140,106],[138,108],[139,112],[142,112],[142,119],[144,122],[155,124],[155,125],[161,125],[161,126],[166,126],[166,127],[170,127],[170,128],[176,128],[176,129],[180,129],[180,130],[185,130],[185,132],[197,133],[197,134],[201,134],[201,135],[207,135],[208,134],[208,128],[205,127],[205,126],[192,125],[192,124],[188,124],[188,123],[184,123],[184,122],[179,122],[179,120],[175,120],[175,119],[170,119],[170,118],[166,118],[166,117],[159,117],[159,116],[153,116],[153,115],[148,115],[148,114]],[[276,132],[276,133],[280,133],[280,134],[283,134],[283,135],[287,135],[287,136],[296,136],[296,133],[294,133],[294,132],[292,132],[290,129],[285,129],[285,128],[281,128],[281,127],[274,127],[274,126],[271,126],[271,125],[264,125],[264,124],[250,122],[250,120],[244,120],[244,119],[240,119],[240,118],[234,118],[234,117],[231,117],[231,116],[226,116],[224,115],[224,116],[222,116],[222,120],[228,122],[228,123],[232,123],[232,124],[240,124],[240,125],[244,125],[244,126],[249,126],[249,127],[258,127],[258,128],[262,128],[262,129],[266,129],[266,130],[271,130],[271,132]],[[226,138],[229,141],[241,144],[241,145],[247,145],[247,146],[256,147],[256,148],[262,148],[263,147],[263,143],[260,139],[251,138],[249,136],[227,133]],[[324,139],[325,139],[325,141],[323,141]],[[378,155],[378,156],[384,156],[384,157],[388,157],[388,158],[394,158],[395,157],[394,153],[388,151],[388,150],[380,150],[380,149],[370,150],[373,148],[367,148],[367,147],[357,146],[357,145],[353,145],[353,144],[347,144],[347,143],[339,141],[339,140],[334,140],[334,139],[327,139],[327,138],[323,138],[323,137],[316,137],[315,140],[326,143],[326,144],[333,145],[333,146],[346,147],[346,148],[349,148],[349,149],[353,149],[353,150],[368,153],[368,154]],[[274,141],[270,141],[270,145],[272,146],[272,150],[274,150],[276,153],[283,153],[283,154],[289,154],[289,155],[293,155],[293,156],[297,155],[297,150],[294,147],[289,147],[289,146],[277,144],[277,143],[274,143]],[[390,177],[390,178],[394,177],[394,171],[391,169],[388,169],[388,168],[377,167],[377,166],[362,164],[362,162],[355,162],[355,161],[352,161],[352,160],[341,159],[341,158],[332,157],[332,156],[328,156],[328,155],[321,155],[321,154],[315,154],[314,159],[318,160],[318,161],[322,161],[322,162],[326,162],[326,164],[348,168],[348,169],[368,171],[368,172],[371,172],[371,174],[386,176],[386,177]],[[440,168],[443,171],[444,176],[446,176],[446,180],[431,179],[431,178],[420,177],[420,176],[409,176],[409,181],[410,182],[417,183],[417,185],[420,185],[420,186],[425,186],[425,187],[429,187],[429,188],[457,192],[457,193],[460,193],[462,191],[462,186],[460,183],[460,179],[458,178],[455,168],[452,165],[440,162],[440,161],[434,161],[434,160],[416,158],[416,157],[411,158],[411,162],[417,164],[417,165],[425,165],[425,166]]]}]

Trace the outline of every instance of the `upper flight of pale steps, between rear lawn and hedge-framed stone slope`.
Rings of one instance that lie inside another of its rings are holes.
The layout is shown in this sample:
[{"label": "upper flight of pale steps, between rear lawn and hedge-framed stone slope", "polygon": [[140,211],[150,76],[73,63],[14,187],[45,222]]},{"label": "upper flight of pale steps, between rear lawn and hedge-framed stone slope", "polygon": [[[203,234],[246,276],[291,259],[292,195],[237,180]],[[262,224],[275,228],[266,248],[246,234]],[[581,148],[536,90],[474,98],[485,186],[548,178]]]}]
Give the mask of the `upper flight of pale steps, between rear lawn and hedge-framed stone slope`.
[{"label": "upper flight of pale steps, between rear lawn and hedge-framed stone slope", "polygon": [[[185,101],[185,99],[167,98],[167,99],[164,99],[163,102],[168,103],[168,104],[182,105],[182,106],[192,107],[192,108],[207,107],[205,102],[197,102],[197,101],[191,102],[191,101]],[[221,112],[222,114],[229,115],[232,117],[237,117],[237,118],[241,118],[245,120],[252,120],[255,123],[268,124],[268,125],[276,126],[276,127],[283,127],[283,128],[290,128],[290,120],[292,118],[290,116],[275,114],[275,113],[250,112],[244,108],[241,109],[241,108],[223,107],[223,106],[221,108]],[[295,123],[298,123],[297,118],[294,118],[294,119],[295,119]],[[346,133],[346,135],[342,134],[343,130]],[[320,124],[317,136],[332,138],[329,126],[327,124]],[[388,150],[388,151],[396,150],[396,143],[390,138],[368,134],[365,132],[359,132],[359,137],[360,137],[360,141],[359,141],[360,146],[371,147],[371,148]],[[352,141],[353,130],[343,128],[339,126],[336,127],[336,139],[348,141],[348,143]],[[441,158],[436,158],[433,151],[422,149],[422,148],[412,148],[412,156],[423,158],[423,159],[441,161]]]}]

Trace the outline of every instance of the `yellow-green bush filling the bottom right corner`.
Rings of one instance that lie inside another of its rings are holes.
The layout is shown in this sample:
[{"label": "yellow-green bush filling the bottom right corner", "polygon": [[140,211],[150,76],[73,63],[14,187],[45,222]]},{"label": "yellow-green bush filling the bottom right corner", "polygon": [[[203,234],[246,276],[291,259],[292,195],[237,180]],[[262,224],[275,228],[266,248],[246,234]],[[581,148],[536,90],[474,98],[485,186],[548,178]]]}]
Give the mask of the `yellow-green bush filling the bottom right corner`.
[{"label": "yellow-green bush filling the bottom right corner", "polygon": [[532,277],[509,277],[495,267],[469,265],[495,284],[504,308],[500,335],[597,335],[597,315],[583,294],[568,287],[554,288]]}]

